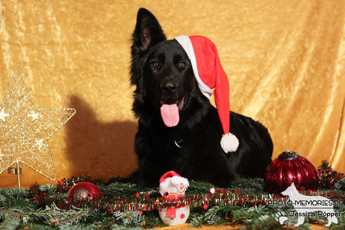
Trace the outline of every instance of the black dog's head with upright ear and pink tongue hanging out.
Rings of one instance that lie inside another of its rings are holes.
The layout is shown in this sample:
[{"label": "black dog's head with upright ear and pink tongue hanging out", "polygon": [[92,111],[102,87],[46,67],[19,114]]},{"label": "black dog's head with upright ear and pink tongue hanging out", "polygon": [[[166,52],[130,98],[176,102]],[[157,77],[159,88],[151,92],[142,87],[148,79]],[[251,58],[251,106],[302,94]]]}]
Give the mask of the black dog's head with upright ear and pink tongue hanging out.
[{"label": "black dog's head with upright ear and pink tongue hanging out", "polygon": [[167,40],[157,19],[143,8],[133,33],[131,73],[131,83],[137,86],[136,115],[155,111],[168,127],[179,123],[195,94],[200,94],[187,53],[176,40]]}]

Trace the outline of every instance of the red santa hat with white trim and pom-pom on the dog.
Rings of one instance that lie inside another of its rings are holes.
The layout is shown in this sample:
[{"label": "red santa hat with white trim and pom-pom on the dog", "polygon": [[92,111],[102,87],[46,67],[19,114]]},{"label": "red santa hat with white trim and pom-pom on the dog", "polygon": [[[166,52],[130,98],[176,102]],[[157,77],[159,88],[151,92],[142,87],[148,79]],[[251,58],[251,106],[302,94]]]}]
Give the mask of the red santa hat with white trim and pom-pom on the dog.
[{"label": "red santa hat with white trim and pom-pom on the dog", "polygon": [[175,37],[186,51],[193,67],[195,79],[201,92],[210,99],[214,89],[220,123],[224,134],[220,145],[224,152],[235,152],[239,146],[237,137],[230,133],[229,80],[220,64],[215,44],[204,36]]}]

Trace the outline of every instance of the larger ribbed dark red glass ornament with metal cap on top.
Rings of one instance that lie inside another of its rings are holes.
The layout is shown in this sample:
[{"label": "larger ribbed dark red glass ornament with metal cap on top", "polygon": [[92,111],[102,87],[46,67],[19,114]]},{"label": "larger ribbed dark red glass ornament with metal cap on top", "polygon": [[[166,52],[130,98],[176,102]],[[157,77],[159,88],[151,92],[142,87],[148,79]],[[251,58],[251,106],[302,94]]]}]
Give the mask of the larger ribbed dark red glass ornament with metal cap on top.
[{"label": "larger ribbed dark red glass ornament with metal cap on top", "polygon": [[268,193],[279,194],[294,182],[297,190],[318,188],[318,174],[314,165],[296,152],[281,153],[266,169],[265,186]]}]

